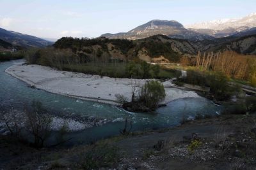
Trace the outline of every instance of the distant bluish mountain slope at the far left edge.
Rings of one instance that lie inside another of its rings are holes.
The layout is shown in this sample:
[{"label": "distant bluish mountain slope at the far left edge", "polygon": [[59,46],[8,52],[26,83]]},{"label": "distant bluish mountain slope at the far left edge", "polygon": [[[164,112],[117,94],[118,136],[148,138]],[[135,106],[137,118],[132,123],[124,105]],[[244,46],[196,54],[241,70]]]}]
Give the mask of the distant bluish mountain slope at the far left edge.
[{"label": "distant bluish mountain slope at the far left edge", "polygon": [[7,31],[0,28],[0,39],[12,43],[15,46],[29,47],[44,47],[52,45],[52,42],[45,39],[37,38],[35,36],[29,36],[27,34],[21,34],[19,32]]}]

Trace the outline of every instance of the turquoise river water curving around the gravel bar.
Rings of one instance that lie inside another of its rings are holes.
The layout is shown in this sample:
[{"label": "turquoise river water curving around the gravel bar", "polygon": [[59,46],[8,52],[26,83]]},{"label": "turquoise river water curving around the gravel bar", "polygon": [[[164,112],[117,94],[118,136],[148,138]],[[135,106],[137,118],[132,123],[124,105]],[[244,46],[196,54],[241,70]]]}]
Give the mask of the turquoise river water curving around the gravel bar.
[{"label": "turquoise river water curving around the gravel bar", "polygon": [[155,115],[130,113],[109,104],[82,101],[51,94],[44,90],[31,89],[23,81],[4,72],[16,62],[19,61],[0,62],[0,109],[11,106],[22,109],[24,105],[38,100],[50,113],[58,117],[73,118],[79,121],[89,121],[88,118],[107,120],[107,124],[70,133],[69,136],[74,139],[69,144],[88,143],[119,134],[120,129],[124,127],[125,118],[132,121],[132,131],[137,131],[173,127],[180,124],[183,115],[186,118],[195,117],[196,114],[216,115],[221,110],[220,106],[214,105],[207,99],[186,98],[168,103],[166,107],[159,108]]}]

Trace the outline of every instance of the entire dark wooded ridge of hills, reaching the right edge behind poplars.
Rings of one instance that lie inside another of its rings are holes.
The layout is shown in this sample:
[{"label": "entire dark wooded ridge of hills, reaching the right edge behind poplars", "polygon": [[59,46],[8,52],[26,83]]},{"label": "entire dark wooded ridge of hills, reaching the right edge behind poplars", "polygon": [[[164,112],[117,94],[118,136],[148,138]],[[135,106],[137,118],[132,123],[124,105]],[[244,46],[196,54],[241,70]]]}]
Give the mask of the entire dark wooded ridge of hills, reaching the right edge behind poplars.
[{"label": "entire dark wooded ridge of hills, reaching the right edge behind poplars", "polygon": [[256,38],[244,36],[237,38],[204,39],[191,41],[156,35],[144,39],[74,39],[61,38],[54,44],[55,48],[67,49],[83,59],[108,61],[109,59],[141,59],[147,62],[179,62],[182,56],[195,56],[198,51],[217,52],[232,50],[243,54],[255,54]]}]

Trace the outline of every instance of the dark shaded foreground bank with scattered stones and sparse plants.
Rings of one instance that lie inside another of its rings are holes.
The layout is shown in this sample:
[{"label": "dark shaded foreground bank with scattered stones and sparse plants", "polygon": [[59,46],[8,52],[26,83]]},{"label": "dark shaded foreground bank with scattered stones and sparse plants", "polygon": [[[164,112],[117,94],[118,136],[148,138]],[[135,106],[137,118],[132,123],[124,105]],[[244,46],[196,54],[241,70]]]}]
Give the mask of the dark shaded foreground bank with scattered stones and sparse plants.
[{"label": "dark shaded foreground bank with scattered stones and sparse plants", "polygon": [[54,150],[2,136],[0,168],[254,169],[255,122],[255,114],[221,115]]}]

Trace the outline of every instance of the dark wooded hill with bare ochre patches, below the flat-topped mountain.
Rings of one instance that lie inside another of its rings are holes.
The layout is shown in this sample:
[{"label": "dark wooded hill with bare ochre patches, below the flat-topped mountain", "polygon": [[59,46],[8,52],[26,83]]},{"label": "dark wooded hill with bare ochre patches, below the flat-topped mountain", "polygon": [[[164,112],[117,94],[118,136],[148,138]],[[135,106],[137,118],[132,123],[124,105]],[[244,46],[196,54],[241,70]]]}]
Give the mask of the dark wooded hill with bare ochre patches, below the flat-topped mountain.
[{"label": "dark wooded hill with bare ochre patches, below the flat-topped mountain", "polygon": [[198,42],[156,35],[134,41],[128,39],[74,39],[61,38],[55,48],[71,48],[86,60],[141,59],[147,62],[179,62],[183,55],[196,55]]}]

